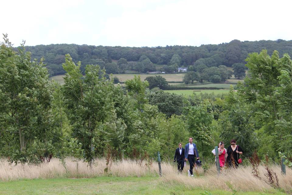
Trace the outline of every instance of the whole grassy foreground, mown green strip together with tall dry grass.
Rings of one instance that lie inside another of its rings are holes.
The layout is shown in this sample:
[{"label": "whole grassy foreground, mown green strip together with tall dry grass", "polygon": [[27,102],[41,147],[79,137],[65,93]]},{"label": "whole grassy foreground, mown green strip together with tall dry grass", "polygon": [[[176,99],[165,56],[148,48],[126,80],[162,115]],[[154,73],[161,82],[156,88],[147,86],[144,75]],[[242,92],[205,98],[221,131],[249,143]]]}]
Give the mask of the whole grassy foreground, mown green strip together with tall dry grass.
[{"label": "whole grassy foreground, mown green strip together with tall dry grass", "polygon": [[[5,159],[0,161],[1,194],[286,194],[292,193],[292,170],[287,175],[280,173],[280,166],[271,165],[279,179],[279,188],[266,183],[265,167],[258,167],[258,179],[252,176],[251,166],[228,169],[219,176],[213,165],[206,172],[199,168],[194,177],[177,174],[175,163],[162,164],[162,177],[158,176],[155,161],[147,165],[144,161],[112,161],[108,172],[106,159],[96,159],[90,168],[86,163],[67,158],[66,168],[53,158],[40,165],[11,165]],[[148,161],[149,162],[149,161]],[[67,171],[66,171],[67,169]]]}]

